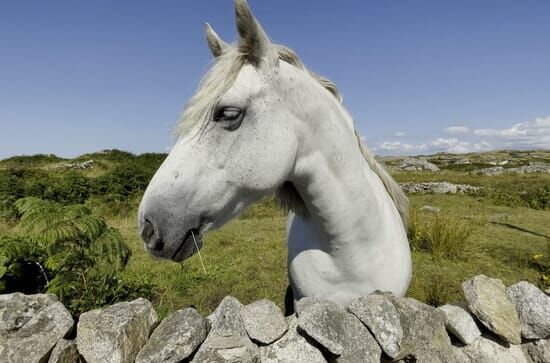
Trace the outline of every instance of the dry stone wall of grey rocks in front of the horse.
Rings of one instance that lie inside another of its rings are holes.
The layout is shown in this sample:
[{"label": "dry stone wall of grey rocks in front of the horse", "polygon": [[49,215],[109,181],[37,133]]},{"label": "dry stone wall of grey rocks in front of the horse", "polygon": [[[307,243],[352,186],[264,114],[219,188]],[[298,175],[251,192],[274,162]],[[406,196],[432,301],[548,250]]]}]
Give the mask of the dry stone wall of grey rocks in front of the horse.
[{"label": "dry stone wall of grey rocks in front of the horse", "polygon": [[284,317],[269,300],[227,296],[159,322],[145,299],[75,324],[53,295],[0,295],[2,362],[550,362],[550,297],[480,275],[465,300],[434,308],[375,292],[347,307],[302,299]]}]

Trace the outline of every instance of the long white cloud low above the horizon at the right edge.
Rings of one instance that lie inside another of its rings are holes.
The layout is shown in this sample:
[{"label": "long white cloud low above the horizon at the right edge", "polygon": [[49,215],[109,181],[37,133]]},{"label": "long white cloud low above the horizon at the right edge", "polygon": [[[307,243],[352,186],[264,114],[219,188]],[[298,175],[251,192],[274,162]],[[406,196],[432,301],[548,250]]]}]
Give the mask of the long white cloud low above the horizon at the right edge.
[{"label": "long white cloud low above the horizon at the right edge", "polygon": [[478,129],[474,135],[488,138],[498,147],[550,148],[550,116],[520,122],[507,129]]}]

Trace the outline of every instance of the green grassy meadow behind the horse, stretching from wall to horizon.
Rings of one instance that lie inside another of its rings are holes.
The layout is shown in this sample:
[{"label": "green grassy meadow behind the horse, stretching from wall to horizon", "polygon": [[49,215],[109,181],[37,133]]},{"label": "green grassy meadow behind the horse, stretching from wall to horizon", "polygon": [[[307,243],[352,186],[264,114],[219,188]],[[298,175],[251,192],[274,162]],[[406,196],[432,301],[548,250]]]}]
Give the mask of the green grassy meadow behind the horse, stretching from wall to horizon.
[{"label": "green grassy meadow behind the horse, stretching from wall to horizon", "polygon": [[[201,250],[205,270],[198,256],[176,264],[154,259],[143,249],[137,233],[137,207],[148,180],[164,157],[163,154],[132,155],[111,150],[72,160],[40,155],[0,161],[1,240],[17,237],[17,241],[31,246],[44,244],[44,233],[30,228],[29,222],[23,223],[25,214],[21,203],[18,207],[16,202],[29,196],[55,202],[49,207],[51,210],[82,205],[90,215],[84,211],[85,219],[79,215],[79,220],[97,218],[105,222],[105,231],[109,228],[117,231],[128,253],[115,251],[119,254],[116,255],[109,251],[107,256],[119,258],[120,268],[109,271],[109,279],[92,275],[93,268],[82,269],[81,273],[84,277],[95,276],[91,281],[98,284],[111,284],[115,287],[111,291],[115,293],[103,299],[97,298],[97,294],[105,289],[92,290],[94,299],[68,293],[67,299],[82,300],[73,301],[74,314],[142,295],[152,299],[162,316],[190,305],[208,314],[226,295],[233,295],[243,303],[268,298],[283,307],[288,286],[286,214],[273,198],[251,207],[239,219],[205,236]],[[475,168],[503,159],[512,160],[514,165],[533,160],[550,161],[550,153],[498,152],[468,157],[472,163],[457,164],[459,156],[427,156],[440,166],[439,172],[402,171],[392,167],[399,163],[398,159],[384,160],[399,182],[448,181],[481,187],[480,191],[468,194],[409,195],[409,239],[414,265],[408,295],[432,305],[460,300],[462,281],[477,274],[502,279],[505,284],[527,280],[541,288],[550,287],[550,173],[485,176],[473,172]],[[91,165],[83,166],[88,160],[93,160]],[[422,211],[425,205],[441,211]],[[90,237],[94,236],[89,232],[91,227],[84,224],[85,227],[78,227],[78,233],[67,237],[63,234],[68,233],[67,221],[71,226],[78,225],[67,219],[72,216],[67,213],[57,214],[58,218],[65,218],[64,229],[55,238],[49,238],[63,243],[77,241],[75,245],[82,250],[80,256],[88,258],[87,251],[95,246]],[[13,283],[5,284],[9,279],[19,279],[19,286],[29,282],[28,276],[21,275],[20,268],[13,267],[14,263],[23,266],[39,258],[36,252],[33,255],[16,251],[22,254],[18,257],[14,255],[15,250],[7,250],[6,246],[11,245],[0,243],[3,263],[0,290],[3,292],[13,289]],[[59,262],[55,254],[59,251],[52,251],[51,243],[46,245],[43,254],[53,257],[38,262],[45,266],[44,274],[51,275],[51,279],[63,269],[64,262]],[[106,252],[102,253],[104,256]],[[52,258],[57,261],[57,270],[52,269]],[[75,278],[63,283],[77,285],[81,277]],[[35,285],[39,291],[52,291],[51,283]]]}]

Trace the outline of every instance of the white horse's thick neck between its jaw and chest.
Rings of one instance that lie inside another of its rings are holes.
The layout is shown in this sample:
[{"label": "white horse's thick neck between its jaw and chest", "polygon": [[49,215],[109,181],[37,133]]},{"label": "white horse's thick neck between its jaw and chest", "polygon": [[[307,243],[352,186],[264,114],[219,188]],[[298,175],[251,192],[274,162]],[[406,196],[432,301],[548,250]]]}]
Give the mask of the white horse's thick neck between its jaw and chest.
[{"label": "white horse's thick neck between its jaw and chest", "polygon": [[327,119],[315,122],[328,126],[315,127],[302,140],[305,147],[293,180],[316,234],[322,236],[319,247],[354,253],[388,239],[406,241],[390,195],[361,154],[351,118],[340,105],[325,111],[320,114]]}]

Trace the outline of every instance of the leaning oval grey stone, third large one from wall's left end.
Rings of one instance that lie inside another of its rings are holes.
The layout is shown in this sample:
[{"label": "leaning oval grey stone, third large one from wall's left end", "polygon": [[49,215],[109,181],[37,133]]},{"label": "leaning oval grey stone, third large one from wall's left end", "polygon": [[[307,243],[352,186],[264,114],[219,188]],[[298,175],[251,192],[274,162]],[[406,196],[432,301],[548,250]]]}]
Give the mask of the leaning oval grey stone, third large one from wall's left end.
[{"label": "leaning oval grey stone, third large one from wall's left end", "polygon": [[139,351],[136,363],[180,362],[204,341],[210,323],[193,308],[168,315]]}]

